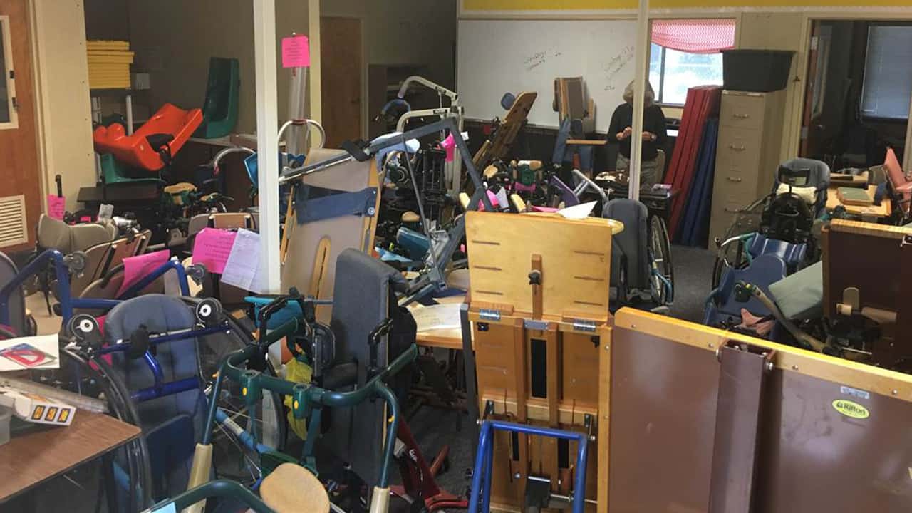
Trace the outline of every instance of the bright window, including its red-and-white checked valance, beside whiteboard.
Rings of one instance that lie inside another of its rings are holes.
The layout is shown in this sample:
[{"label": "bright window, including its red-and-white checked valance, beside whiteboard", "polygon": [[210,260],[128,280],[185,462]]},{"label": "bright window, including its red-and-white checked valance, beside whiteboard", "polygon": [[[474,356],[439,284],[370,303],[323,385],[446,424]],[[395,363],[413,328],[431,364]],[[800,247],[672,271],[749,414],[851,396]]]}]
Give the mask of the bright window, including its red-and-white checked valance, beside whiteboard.
[{"label": "bright window, including its red-and-white checked valance, beside whiteboard", "polygon": [[721,85],[720,50],[734,47],[734,41],[734,19],[653,21],[649,83],[656,102],[683,105],[689,88]]}]

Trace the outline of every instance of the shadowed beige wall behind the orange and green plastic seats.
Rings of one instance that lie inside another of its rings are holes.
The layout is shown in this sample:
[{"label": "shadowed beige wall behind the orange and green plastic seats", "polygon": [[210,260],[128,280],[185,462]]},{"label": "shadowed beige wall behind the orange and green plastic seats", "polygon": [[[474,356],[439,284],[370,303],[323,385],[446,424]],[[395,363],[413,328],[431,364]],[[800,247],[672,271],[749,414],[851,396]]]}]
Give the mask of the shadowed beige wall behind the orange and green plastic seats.
[{"label": "shadowed beige wall behind the orange and green plastic seats", "polygon": [[[137,52],[134,71],[151,75],[151,108],[170,102],[201,107],[209,58],[237,58],[241,100],[236,131],[256,130],[254,9],[250,0],[129,0],[130,40]],[[278,37],[307,34],[307,2],[276,0]],[[278,51],[280,43],[276,42]],[[288,110],[288,72],[279,67],[278,113]]]}]

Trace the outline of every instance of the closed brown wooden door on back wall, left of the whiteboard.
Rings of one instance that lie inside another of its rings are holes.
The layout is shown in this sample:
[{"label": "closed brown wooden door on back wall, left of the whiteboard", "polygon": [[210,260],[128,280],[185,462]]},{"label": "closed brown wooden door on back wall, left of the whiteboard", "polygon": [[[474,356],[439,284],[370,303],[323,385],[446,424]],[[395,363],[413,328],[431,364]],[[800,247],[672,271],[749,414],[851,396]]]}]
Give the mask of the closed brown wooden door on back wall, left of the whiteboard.
[{"label": "closed brown wooden door on back wall, left of the whiteboard", "polygon": [[326,148],[361,135],[361,20],[320,19],[323,128]]}]

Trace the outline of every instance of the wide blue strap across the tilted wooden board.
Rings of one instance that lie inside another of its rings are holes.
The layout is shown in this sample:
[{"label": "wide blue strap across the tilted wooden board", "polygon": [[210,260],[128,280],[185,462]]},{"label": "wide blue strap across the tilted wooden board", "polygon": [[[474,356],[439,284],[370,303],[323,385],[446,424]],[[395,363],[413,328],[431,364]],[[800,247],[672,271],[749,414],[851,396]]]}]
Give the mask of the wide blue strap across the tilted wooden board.
[{"label": "wide blue strap across the tilted wooden board", "polygon": [[314,185],[296,188],[297,224],[314,223],[345,215],[371,217],[377,212],[377,188],[367,187],[348,193]]}]

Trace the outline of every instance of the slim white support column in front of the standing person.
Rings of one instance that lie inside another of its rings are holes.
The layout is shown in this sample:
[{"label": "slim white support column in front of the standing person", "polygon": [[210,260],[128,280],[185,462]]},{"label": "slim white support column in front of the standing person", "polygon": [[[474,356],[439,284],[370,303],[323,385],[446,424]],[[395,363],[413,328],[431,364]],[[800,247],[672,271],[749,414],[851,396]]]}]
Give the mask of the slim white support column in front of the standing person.
[{"label": "slim white support column in front of the standing person", "polygon": [[630,182],[627,197],[639,200],[639,172],[643,164],[643,109],[646,103],[646,74],[649,64],[649,0],[639,0],[637,44],[633,78],[633,133],[630,144]]}]

